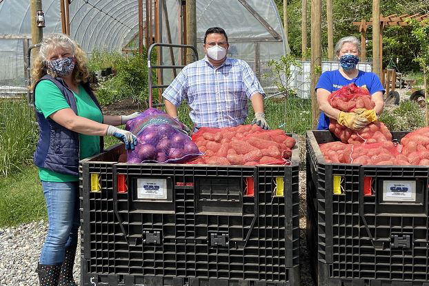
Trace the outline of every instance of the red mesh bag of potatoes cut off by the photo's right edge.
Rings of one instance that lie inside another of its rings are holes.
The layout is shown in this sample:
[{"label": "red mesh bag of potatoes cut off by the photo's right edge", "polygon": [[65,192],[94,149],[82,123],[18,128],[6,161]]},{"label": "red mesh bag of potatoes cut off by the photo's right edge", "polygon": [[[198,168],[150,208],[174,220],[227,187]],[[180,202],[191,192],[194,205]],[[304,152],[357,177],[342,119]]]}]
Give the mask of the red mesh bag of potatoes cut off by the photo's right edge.
[{"label": "red mesh bag of potatoes cut off by the photo's right edge", "polygon": [[429,165],[429,127],[422,127],[401,139],[402,152],[411,165]]}]

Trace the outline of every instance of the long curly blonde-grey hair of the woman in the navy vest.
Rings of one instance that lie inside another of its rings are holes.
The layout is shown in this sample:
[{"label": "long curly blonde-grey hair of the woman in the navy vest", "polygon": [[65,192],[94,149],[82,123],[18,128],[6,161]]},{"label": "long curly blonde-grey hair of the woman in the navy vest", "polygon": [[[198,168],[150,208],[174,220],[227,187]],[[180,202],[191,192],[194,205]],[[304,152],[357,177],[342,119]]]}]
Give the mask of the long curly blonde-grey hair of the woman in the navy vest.
[{"label": "long curly blonde-grey hair of the woman in the navy vest", "polygon": [[53,74],[48,69],[48,54],[57,48],[63,48],[72,52],[76,62],[73,69],[73,79],[75,83],[86,83],[89,78],[89,71],[87,67],[88,58],[86,57],[85,52],[81,47],[74,42],[66,34],[52,34],[50,37],[47,37],[41,41],[41,46],[39,48],[39,56],[34,59],[32,64],[31,74],[32,74],[32,86],[39,81],[46,74],[50,74],[53,77],[57,77],[57,74]]}]

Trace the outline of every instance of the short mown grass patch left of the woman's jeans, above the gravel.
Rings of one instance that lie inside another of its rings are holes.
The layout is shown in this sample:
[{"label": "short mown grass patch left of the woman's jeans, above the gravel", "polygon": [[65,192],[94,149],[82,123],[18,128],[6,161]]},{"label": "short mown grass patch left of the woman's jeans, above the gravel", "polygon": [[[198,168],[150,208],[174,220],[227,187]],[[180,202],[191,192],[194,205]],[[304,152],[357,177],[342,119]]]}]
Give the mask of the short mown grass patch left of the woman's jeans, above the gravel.
[{"label": "short mown grass patch left of the woman's jeans, above the gravel", "polygon": [[0,194],[0,227],[47,218],[37,167],[0,177]]}]

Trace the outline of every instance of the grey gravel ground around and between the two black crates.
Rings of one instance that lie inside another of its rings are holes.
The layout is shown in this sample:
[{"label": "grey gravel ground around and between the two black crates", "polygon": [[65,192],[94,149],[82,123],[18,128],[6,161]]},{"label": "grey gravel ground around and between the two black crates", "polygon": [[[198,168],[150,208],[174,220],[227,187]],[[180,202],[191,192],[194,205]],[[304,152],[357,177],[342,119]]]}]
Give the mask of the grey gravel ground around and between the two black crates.
[{"label": "grey gravel ground around and between the two black crates", "polygon": [[[306,172],[299,172],[301,286],[313,286],[306,241]],[[37,261],[46,236],[45,221],[0,228],[0,286],[37,286]],[[79,239],[80,241],[80,239]],[[80,245],[78,245],[78,252]],[[80,281],[80,257],[74,263],[74,280]]]}]

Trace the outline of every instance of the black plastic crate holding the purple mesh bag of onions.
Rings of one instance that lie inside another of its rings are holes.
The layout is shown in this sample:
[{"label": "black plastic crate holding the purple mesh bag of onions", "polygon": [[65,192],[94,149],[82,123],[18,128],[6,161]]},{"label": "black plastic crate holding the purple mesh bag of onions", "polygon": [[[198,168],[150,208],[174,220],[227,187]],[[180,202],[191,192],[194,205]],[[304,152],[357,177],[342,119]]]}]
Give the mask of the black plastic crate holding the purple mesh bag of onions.
[{"label": "black plastic crate holding the purple mesh bag of onions", "polygon": [[291,165],[103,162],[121,152],[81,161],[81,285],[299,285],[298,146]]}]

